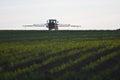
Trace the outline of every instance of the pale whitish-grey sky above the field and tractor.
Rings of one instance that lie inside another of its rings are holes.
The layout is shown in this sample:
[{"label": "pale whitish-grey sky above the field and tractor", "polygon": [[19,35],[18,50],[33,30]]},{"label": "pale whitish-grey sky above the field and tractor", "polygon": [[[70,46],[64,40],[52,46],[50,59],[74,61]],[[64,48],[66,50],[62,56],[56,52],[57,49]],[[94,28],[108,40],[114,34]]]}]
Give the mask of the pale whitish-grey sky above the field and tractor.
[{"label": "pale whitish-grey sky above the field and tractor", "polygon": [[[57,19],[80,30],[120,28],[120,0],[0,0],[0,30],[25,28]],[[73,29],[73,28],[64,28]],[[75,29],[75,28],[74,28]]]}]

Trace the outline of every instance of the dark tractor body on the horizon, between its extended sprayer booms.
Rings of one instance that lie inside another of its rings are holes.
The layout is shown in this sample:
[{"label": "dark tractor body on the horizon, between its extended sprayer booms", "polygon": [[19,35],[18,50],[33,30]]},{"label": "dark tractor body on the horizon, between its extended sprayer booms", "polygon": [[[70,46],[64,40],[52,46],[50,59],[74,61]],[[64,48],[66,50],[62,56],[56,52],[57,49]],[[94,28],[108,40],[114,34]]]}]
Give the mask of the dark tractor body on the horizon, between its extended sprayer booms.
[{"label": "dark tractor body on the horizon, between its extended sprayer booms", "polygon": [[49,28],[49,30],[58,30],[58,21],[56,19],[49,19],[47,21],[47,27]]}]

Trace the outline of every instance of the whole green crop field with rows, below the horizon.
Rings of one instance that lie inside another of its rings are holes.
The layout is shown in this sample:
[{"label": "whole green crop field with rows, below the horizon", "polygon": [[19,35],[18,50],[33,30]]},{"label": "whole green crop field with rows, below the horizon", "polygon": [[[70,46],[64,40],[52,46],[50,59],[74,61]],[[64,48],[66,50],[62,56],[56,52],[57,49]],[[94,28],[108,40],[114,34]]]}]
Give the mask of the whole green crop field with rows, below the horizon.
[{"label": "whole green crop field with rows, below the horizon", "polygon": [[120,31],[0,31],[0,80],[120,80]]}]

